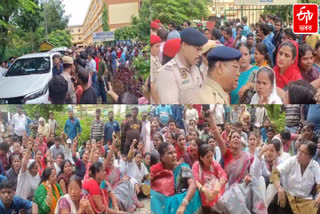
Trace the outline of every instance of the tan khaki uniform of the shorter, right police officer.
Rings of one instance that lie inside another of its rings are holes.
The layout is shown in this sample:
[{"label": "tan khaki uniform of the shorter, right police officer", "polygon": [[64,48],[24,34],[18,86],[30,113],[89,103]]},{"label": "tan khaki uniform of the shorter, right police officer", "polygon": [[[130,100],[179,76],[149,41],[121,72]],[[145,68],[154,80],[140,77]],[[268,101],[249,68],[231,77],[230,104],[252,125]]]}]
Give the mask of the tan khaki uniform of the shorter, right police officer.
[{"label": "tan khaki uniform of the shorter, right police officer", "polygon": [[194,100],[197,104],[230,104],[229,94],[216,81],[207,78]]}]

